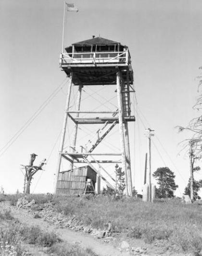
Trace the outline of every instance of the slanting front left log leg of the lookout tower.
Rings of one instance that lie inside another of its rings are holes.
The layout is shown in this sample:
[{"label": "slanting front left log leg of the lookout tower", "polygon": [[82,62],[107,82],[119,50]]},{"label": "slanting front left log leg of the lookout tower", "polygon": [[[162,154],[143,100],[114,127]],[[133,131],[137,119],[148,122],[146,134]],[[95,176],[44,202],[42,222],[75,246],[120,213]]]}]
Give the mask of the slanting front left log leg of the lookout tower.
[{"label": "slanting front left log leg of the lookout tower", "polygon": [[70,102],[70,95],[71,95],[71,88],[72,88],[72,77],[73,77],[73,72],[70,73],[70,77],[69,77],[69,87],[68,87],[67,99],[66,99],[66,105],[65,105],[65,111],[64,111],[63,130],[62,130],[62,134],[61,134],[60,148],[59,148],[59,154],[58,154],[58,163],[57,163],[57,169],[56,169],[56,175],[55,175],[56,176],[55,177],[55,179],[56,179],[55,180],[55,193],[56,193],[56,189],[57,189],[58,175],[60,172],[63,145],[64,145],[64,139],[65,139],[65,133],[66,133],[67,117],[68,117],[69,102]]}]

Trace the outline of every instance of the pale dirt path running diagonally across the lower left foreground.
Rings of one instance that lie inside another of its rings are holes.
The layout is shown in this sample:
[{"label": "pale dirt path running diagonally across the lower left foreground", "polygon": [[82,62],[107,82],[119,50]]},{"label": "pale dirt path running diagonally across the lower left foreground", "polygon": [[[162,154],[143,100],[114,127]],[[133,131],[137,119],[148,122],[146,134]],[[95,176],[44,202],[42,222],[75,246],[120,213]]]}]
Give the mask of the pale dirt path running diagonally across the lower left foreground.
[{"label": "pale dirt path running diagonally across the lower left foreground", "polygon": [[58,233],[63,242],[75,243],[78,242],[82,247],[90,248],[94,253],[99,256],[128,256],[128,253],[120,252],[110,244],[101,243],[98,239],[95,239],[87,234],[75,232],[68,228],[57,228],[54,225],[42,219],[35,219],[30,214],[22,211],[16,207],[1,204],[2,208],[10,209],[13,217],[17,218],[21,223],[26,226],[38,225],[42,230],[48,232]]}]

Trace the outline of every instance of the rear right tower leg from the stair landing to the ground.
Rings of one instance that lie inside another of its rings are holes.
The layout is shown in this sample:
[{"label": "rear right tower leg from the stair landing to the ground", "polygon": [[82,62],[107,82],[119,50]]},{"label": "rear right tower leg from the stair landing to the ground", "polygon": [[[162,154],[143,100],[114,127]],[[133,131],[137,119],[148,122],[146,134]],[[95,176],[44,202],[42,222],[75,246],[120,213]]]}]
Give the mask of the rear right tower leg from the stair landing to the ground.
[{"label": "rear right tower leg from the stair landing to the ground", "polygon": [[125,151],[126,151],[126,172],[127,172],[127,183],[128,183],[128,196],[132,197],[132,175],[131,175],[131,165],[130,165],[130,144],[128,137],[128,125],[127,122],[124,123],[125,130]]}]

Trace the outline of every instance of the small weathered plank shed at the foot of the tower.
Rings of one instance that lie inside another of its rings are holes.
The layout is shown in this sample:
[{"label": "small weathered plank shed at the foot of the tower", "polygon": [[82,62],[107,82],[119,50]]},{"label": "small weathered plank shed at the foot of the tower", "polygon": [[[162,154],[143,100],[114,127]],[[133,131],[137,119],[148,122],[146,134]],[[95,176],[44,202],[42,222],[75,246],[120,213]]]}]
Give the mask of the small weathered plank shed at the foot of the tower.
[{"label": "small weathered plank shed at the foot of the tower", "polygon": [[59,172],[56,194],[81,195],[87,179],[92,180],[95,188],[97,173],[88,165]]}]

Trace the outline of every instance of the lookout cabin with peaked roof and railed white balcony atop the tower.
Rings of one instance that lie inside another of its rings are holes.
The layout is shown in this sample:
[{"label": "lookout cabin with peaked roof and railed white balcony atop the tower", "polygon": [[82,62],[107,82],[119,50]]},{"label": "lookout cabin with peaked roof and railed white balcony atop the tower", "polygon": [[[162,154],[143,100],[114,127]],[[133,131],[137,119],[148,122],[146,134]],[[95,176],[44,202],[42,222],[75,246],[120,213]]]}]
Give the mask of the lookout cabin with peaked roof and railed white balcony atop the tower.
[{"label": "lookout cabin with peaked roof and railed white balcony atop the tower", "polygon": [[75,85],[107,85],[116,84],[116,69],[121,68],[123,79],[126,81],[126,71],[129,69],[129,81],[133,81],[130,53],[127,46],[121,43],[94,37],[65,48],[61,54],[60,65],[70,76]]}]

